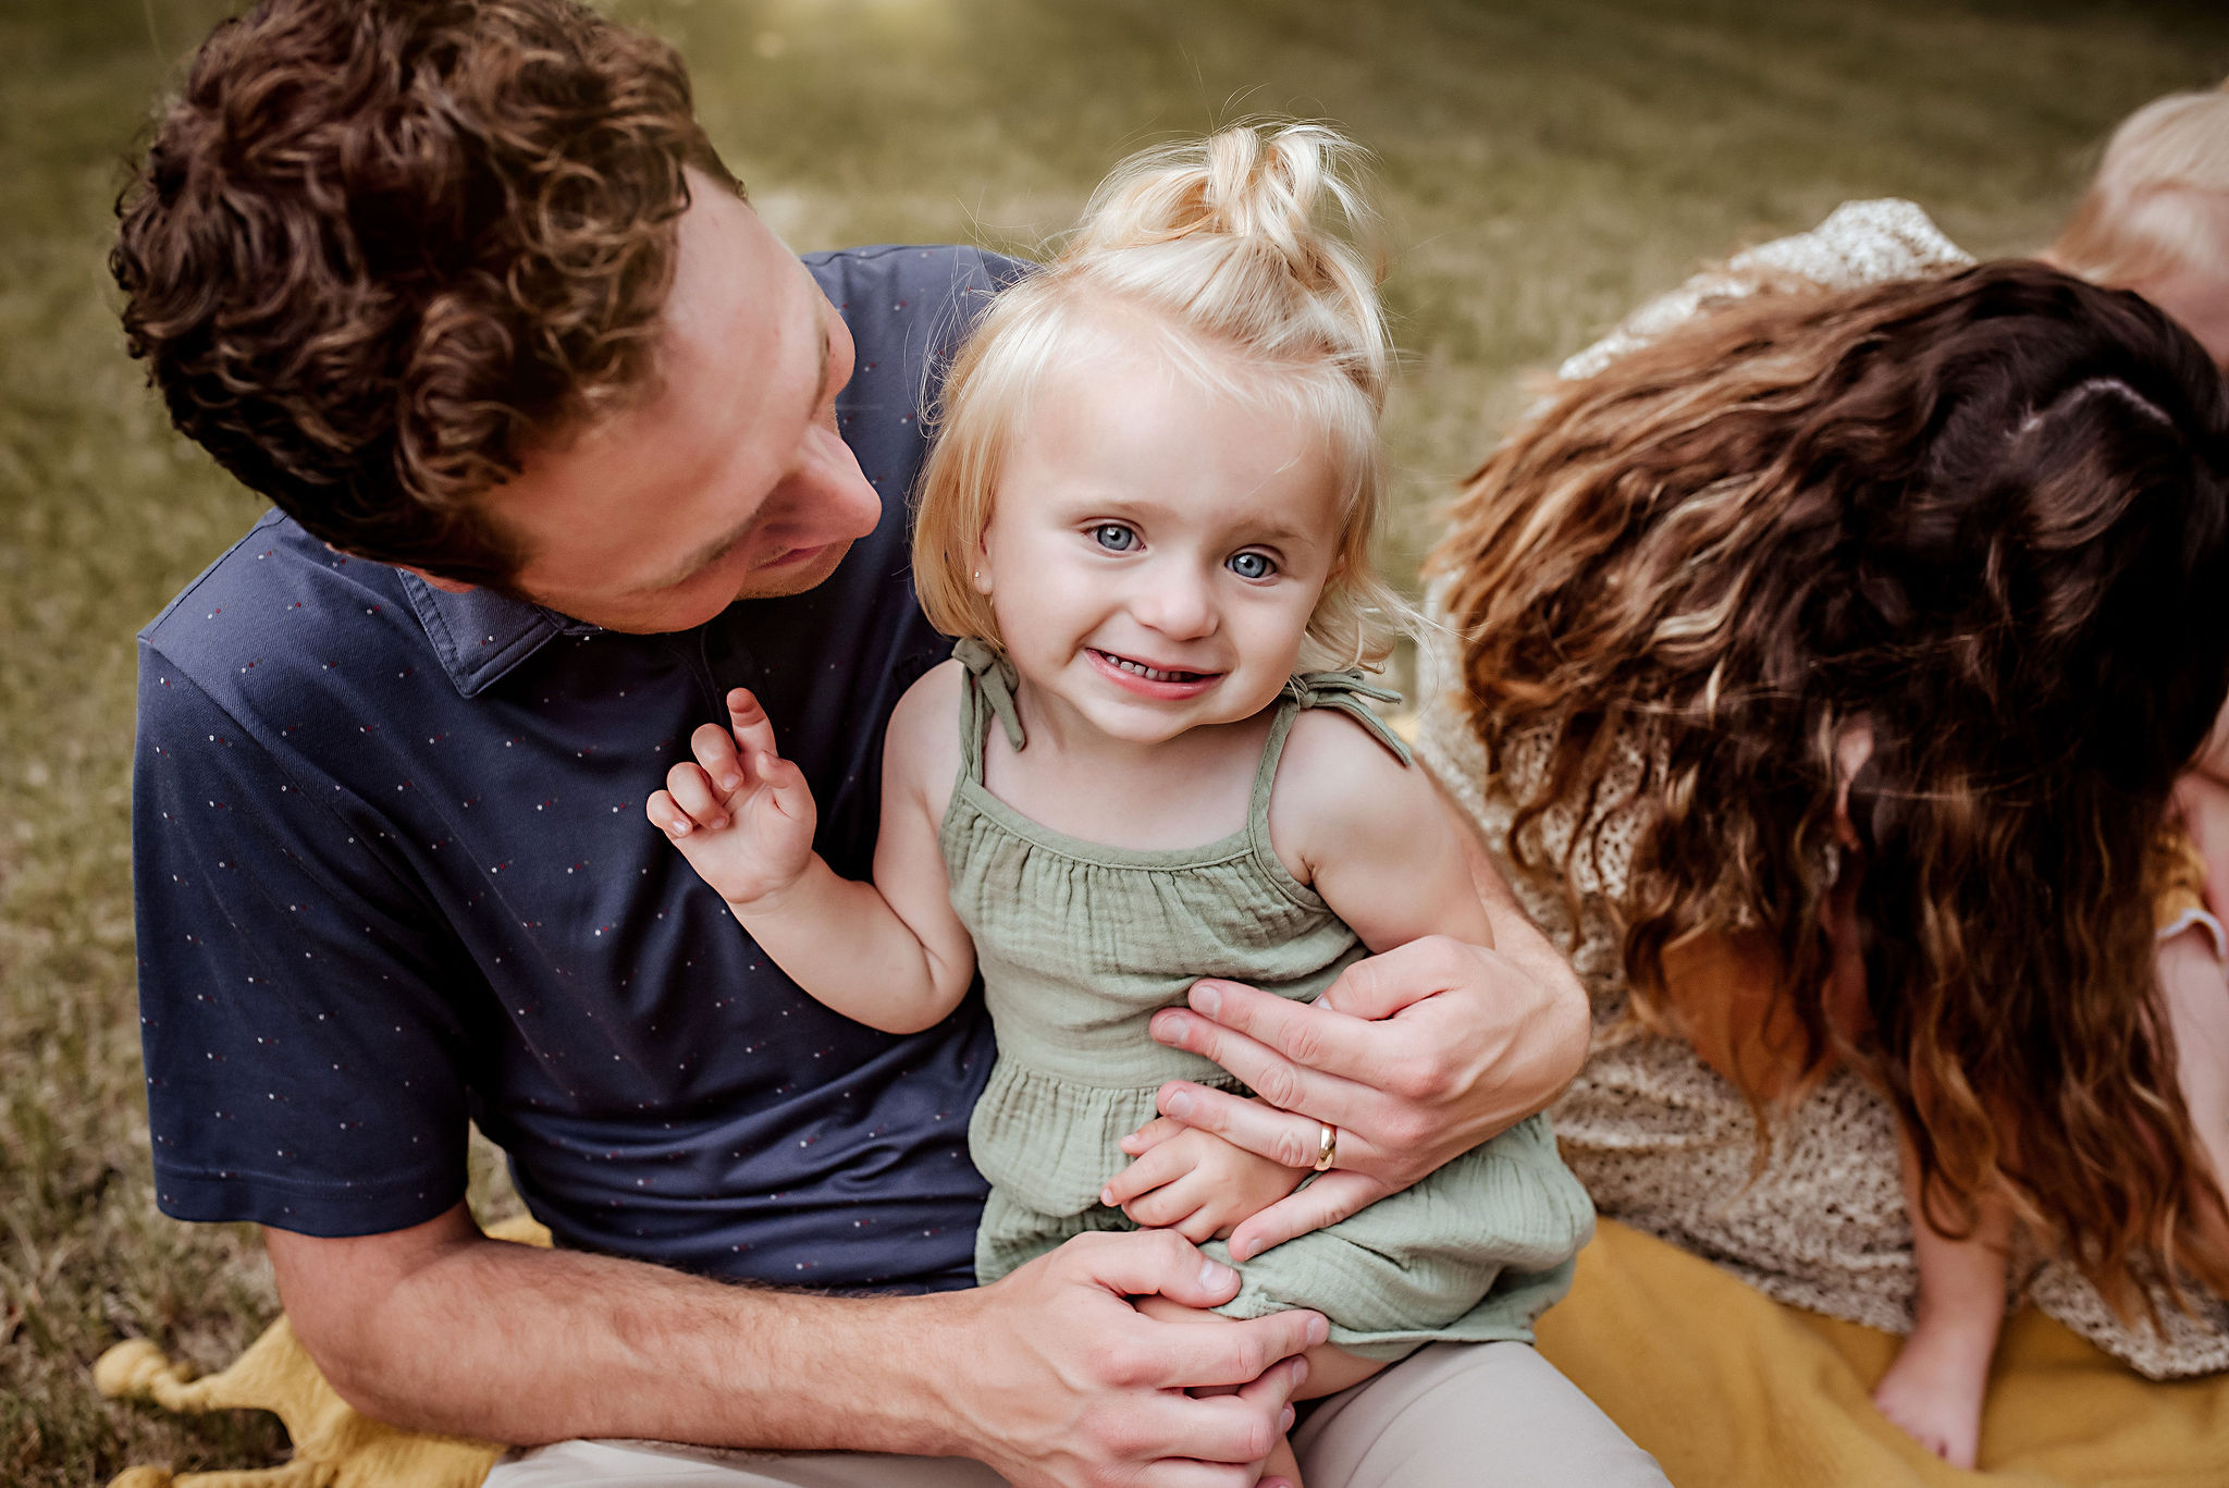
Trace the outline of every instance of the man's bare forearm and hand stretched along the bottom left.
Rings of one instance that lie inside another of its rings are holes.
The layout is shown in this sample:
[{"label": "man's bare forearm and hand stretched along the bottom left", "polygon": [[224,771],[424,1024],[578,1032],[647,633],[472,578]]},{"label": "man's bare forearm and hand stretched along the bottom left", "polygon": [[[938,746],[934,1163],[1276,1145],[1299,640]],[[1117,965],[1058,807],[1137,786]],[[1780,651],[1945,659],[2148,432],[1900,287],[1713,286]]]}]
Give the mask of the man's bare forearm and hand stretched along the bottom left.
[{"label": "man's bare forearm and hand stretched along the bottom left", "polygon": [[909,1298],[488,1240],[464,1205],[381,1236],[263,1234],[294,1332],[345,1401],[504,1443],[849,1448],[974,1457],[1019,1486],[1244,1488],[1306,1374],[1291,1356],[1326,1336],[1313,1312],[1139,1316],[1130,1296],[1237,1292],[1166,1231],[1081,1236],[996,1285]]}]

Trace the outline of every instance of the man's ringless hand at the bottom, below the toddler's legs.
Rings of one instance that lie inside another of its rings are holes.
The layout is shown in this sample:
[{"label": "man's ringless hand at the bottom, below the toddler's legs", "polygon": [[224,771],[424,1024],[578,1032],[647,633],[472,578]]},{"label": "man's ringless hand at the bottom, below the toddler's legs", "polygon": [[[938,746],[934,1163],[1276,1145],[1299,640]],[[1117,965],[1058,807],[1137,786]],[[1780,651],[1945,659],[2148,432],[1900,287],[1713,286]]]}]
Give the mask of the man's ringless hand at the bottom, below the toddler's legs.
[{"label": "man's ringless hand at the bottom, below the toddler's legs", "polygon": [[[1308,1372],[1295,1354],[1328,1323],[1317,1312],[1159,1323],[1132,1296],[1215,1307],[1237,1296],[1237,1272],[1141,1229],[1077,1236],[952,1294],[965,1318],[934,1374],[954,1441],[927,1450],[976,1457],[1016,1488],[1253,1488]],[[1237,1392],[1186,1394],[1201,1385]]]}]

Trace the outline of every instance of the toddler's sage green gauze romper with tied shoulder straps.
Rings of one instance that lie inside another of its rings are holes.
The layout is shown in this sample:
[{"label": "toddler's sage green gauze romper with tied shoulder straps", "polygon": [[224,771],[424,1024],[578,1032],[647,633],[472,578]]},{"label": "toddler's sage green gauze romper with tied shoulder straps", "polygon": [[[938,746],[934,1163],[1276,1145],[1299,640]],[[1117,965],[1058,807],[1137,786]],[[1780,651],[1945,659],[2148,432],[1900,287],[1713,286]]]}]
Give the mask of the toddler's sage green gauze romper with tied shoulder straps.
[{"label": "toddler's sage green gauze romper with tied shoulder straps", "polygon": [[[1391,694],[1344,671],[1295,676],[1275,703],[1239,832],[1204,848],[1108,848],[1039,825],[983,788],[990,721],[1023,747],[1014,676],[981,642],[963,640],[956,656],[967,667],[961,772],[938,843],[999,1033],[999,1064],[967,1127],[992,1185],[976,1234],[976,1278],[990,1283],[1086,1229],[1135,1229],[1099,1189],[1130,1162],[1117,1142],[1155,1115],[1164,1080],[1242,1089],[1208,1060],[1155,1044],[1146,1024],[1159,1008],[1181,1006],[1199,977],[1306,1002],[1366,955],[1271,848],[1271,783],[1300,709],[1335,707],[1402,763],[1409,752],[1362,703]],[[1369,1359],[1531,1339],[1592,1229],[1585,1189],[1534,1115],[1415,1187],[1246,1260],[1219,1312],[1315,1307],[1335,1345]],[[1221,1243],[1204,1249],[1230,1260]]]}]

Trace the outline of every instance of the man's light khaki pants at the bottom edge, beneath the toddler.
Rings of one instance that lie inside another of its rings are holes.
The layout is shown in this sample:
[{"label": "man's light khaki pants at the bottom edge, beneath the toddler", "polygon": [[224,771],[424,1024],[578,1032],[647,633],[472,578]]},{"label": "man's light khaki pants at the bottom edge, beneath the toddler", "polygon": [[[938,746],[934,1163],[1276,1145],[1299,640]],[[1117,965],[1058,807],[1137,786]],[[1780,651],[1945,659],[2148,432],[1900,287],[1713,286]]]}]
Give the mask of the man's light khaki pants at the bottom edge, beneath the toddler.
[{"label": "man's light khaki pants at the bottom edge, beneath the toddler", "polygon": [[[1293,1432],[1308,1488],[1670,1488],[1578,1385],[1525,1343],[1433,1343],[1331,1397]],[[963,1457],[713,1452],[559,1441],[486,1488],[999,1488]]]}]

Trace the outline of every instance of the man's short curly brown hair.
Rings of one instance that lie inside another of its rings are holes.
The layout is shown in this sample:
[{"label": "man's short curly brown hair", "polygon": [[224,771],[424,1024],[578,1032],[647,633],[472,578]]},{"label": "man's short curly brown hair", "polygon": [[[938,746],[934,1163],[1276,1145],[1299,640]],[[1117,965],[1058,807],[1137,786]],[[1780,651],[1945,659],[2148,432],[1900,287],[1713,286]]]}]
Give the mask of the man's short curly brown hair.
[{"label": "man's short curly brown hair", "polygon": [[682,167],[738,190],[680,58],[568,0],[265,0],[118,201],[172,422],[310,533],[502,584],[473,497],[646,395]]}]

